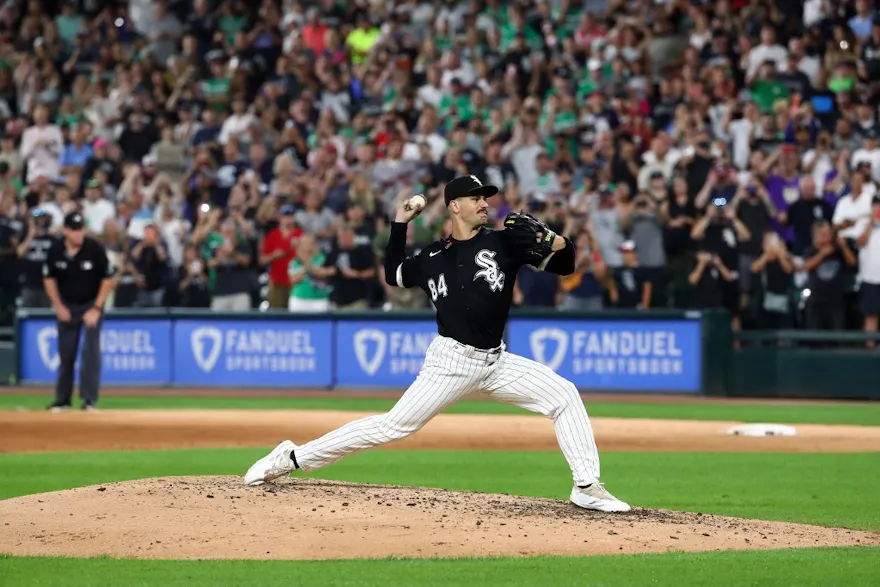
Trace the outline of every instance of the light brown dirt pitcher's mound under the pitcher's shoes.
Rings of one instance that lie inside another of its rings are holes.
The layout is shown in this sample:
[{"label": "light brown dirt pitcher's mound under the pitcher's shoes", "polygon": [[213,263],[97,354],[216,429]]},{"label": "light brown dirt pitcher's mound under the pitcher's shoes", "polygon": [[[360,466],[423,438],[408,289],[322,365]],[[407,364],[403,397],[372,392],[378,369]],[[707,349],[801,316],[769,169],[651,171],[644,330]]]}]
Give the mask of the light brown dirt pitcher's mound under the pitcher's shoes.
[{"label": "light brown dirt pitcher's mound under the pitcher's shoes", "polygon": [[880,545],[880,534],[567,501],[289,479],[147,479],[0,502],[0,553],[171,559],[593,555]]}]

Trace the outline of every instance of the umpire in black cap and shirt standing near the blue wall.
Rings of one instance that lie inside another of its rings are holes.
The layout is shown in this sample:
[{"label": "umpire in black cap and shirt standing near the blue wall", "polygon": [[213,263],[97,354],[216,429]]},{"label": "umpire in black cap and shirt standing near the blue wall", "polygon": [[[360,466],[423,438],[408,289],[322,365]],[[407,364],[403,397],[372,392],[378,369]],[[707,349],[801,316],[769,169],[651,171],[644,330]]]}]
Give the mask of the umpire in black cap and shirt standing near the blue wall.
[{"label": "umpire in black cap and shirt standing near the blue wall", "polygon": [[101,379],[101,312],[113,289],[113,272],[107,251],[83,234],[83,216],[64,217],[64,238],[49,249],[43,266],[43,285],[58,318],[58,379],[52,411],[70,409],[73,368],[80,332],[85,327],[80,361],[82,409],[92,410],[98,401]]}]

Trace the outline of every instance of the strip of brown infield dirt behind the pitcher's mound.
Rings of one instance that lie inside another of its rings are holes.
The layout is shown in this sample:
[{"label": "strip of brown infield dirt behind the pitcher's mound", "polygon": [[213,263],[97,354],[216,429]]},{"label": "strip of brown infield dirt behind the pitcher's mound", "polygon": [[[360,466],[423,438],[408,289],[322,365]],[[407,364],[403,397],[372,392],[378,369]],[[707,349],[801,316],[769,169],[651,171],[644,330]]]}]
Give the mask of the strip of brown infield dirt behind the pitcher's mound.
[{"label": "strip of brown infield dirt behind the pitcher's mound", "polygon": [[[272,446],[306,442],[366,412],[328,410],[0,411],[3,452]],[[596,418],[599,450],[874,452],[880,427],[796,425],[797,436],[728,436],[738,422]],[[391,449],[558,450],[553,424],[530,415],[441,414]]]}]

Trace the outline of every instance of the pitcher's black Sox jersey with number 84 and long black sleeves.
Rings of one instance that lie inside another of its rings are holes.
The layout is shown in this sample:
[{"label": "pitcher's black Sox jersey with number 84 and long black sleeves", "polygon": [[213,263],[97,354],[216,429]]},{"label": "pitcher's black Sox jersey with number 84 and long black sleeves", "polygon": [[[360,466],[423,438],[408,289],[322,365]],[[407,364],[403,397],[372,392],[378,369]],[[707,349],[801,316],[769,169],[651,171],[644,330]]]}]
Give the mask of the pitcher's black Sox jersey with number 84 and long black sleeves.
[{"label": "pitcher's black Sox jersey with number 84 and long black sleeves", "polygon": [[406,256],[406,224],[393,222],[385,254],[385,280],[398,287],[421,287],[437,308],[437,332],[462,344],[492,349],[501,344],[513,285],[525,264],[558,275],[574,270],[574,246],[543,262],[514,250],[504,230],[481,228],[464,241],[446,238]]}]

